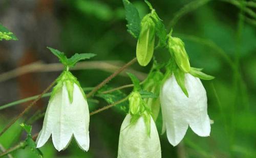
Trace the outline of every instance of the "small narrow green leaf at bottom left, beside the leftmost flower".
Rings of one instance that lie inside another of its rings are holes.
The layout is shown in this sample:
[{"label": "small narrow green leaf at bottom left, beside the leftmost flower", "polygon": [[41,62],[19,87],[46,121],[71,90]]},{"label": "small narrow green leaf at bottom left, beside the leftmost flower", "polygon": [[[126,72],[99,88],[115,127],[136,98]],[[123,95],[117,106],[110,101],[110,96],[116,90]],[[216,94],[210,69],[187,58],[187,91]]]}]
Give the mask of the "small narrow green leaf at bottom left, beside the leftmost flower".
[{"label": "small narrow green leaf at bottom left, beside the leftmost flower", "polygon": [[31,135],[32,126],[24,123],[20,124],[20,126],[22,126],[27,133],[27,138],[25,140],[26,145],[24,146],[25,147],[29,146],[30,149],[38,155],[38,157],[43,157],[42,152],[38,148],[36,148],[36,143],[32,138],[32,135]]}]

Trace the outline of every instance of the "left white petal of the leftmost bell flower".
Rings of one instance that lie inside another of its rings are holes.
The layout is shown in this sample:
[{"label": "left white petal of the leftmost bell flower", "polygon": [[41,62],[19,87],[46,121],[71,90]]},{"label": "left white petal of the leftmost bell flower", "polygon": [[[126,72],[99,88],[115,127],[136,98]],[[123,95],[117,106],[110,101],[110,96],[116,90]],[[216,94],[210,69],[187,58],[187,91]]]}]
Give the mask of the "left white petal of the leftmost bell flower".
[{"label": "left white petal of the leftmost bell flower", "polygon": [[55,94],[52,100],[49,101],[45,118],[44,118],[44,123],[42,125],[42,129],[36,140],[37,148],[43,146],[51,136],[52,130],[57,123],[57,120],[55,118],[58,117],[58,111],[61,106],[59,102],[61,102],[61,100],[62,100],[62,89]]}]

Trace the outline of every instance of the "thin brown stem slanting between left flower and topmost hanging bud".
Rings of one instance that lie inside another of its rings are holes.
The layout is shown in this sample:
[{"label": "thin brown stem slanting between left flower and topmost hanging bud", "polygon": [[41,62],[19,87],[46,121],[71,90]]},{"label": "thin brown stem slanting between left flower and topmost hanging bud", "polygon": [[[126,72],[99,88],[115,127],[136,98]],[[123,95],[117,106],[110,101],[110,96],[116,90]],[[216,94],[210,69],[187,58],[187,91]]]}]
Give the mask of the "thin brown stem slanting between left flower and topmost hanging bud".
[{"label": "thin brown stem slanting between left flower and topmost hanging bud", "polygon": [[87,97],[91,97],[97,90],[99,90],[102,86],[104,86],[106,83],[108,83],[112,78],[114,78],[116,75],[118,75],[120,72],[122,72],[125,68],[131,66],[137,61],[137,58],[132,59],[127,64],[123,65],[120,69],[115,71],[113,74],[111,74],[108,78],[106,78],[104,81],[102,81],[98,86],[96,86],[88,95]]}]

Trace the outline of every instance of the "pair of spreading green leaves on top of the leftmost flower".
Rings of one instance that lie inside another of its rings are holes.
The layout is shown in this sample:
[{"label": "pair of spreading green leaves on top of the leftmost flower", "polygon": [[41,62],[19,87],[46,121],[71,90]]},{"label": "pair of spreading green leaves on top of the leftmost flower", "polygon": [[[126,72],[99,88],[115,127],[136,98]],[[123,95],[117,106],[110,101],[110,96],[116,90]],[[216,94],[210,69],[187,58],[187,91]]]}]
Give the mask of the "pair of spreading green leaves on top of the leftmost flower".
[{"label": "pair of spreading green leaves on top of the leftmost flower", "polygon": [[61,52],[57,49],[53,49],[51,47],[47,47],[48,49],[50,49],[50,51],[56,56],[58,57],[59,61],[67,68],[69,67],[74,67],[76,65],[76,63],[80,60],[84,60],[84,59],[90,59],[94,56],[96,56],[95,54],[92,53],[83,53],[83,54],[75,54],[73,55],[71,58],[67,58],[64,54],[64,52]]}]

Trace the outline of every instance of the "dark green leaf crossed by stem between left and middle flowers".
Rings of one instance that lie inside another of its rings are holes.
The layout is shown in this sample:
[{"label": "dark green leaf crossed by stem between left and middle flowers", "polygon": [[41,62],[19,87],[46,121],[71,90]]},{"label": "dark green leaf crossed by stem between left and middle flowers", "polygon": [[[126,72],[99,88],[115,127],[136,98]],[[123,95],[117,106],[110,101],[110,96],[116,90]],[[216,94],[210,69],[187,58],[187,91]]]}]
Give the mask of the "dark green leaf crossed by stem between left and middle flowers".
[{"label": "dark green leaf crossed by stem between left and middle flowers", "polygon": [[[113,91],[111,93],[102,94],[102,92],[107,91],[107,90],[111,90],[111,89],[113,89],[113,87],[105,85],[100,90],[98,90],[98,93],[96,94],[96,96],[104,99],[109,104],[112,104],[112,103],[114,103],[118,100],[121,100],[121,99],[123,99],[127,96],[125,93],[123,93],[120,90],[116,90],[116,91]],[[116,108],[118,110],[121,110],[124,113],[127,113],[127,112],[129,112],[128,107],[129,107],[129,102],[124,101],[124,102],[119,103],[114,108]]]}]

